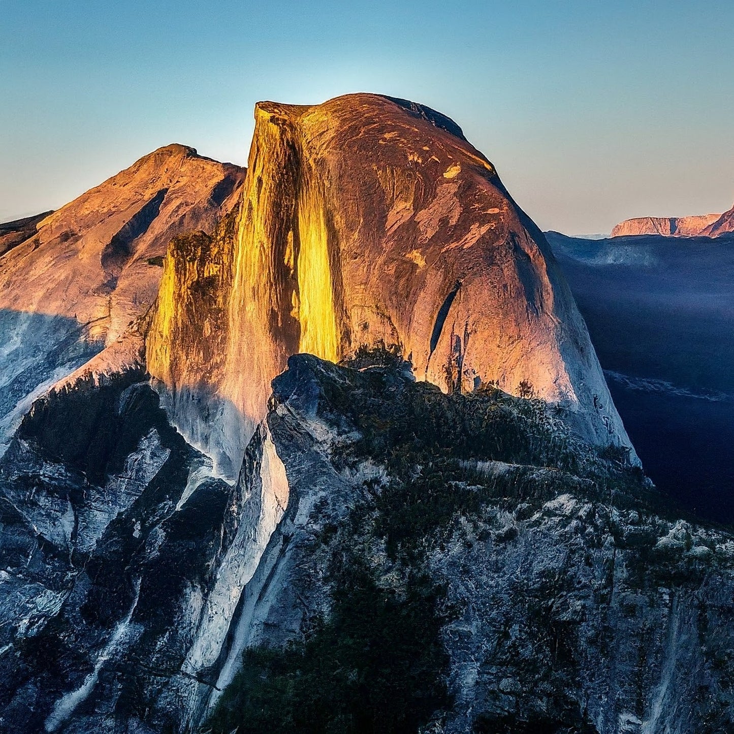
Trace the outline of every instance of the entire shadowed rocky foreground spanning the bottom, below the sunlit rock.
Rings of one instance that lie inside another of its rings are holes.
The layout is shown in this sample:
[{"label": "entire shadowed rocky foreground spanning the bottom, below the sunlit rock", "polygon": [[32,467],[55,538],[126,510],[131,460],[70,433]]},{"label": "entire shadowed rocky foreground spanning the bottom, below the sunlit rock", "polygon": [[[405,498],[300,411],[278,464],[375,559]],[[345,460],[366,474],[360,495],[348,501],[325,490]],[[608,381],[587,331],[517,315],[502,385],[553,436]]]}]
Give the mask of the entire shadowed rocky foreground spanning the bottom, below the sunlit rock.
[{"label": "entire shadowed rocky foreground spanning the bottom, below the sunlit rock", "polygon": [[141,371],[36,401],[0,459],[0,730],[733,725],[730,534],[543,401],[355,366],[291,357],[232,483]]}]

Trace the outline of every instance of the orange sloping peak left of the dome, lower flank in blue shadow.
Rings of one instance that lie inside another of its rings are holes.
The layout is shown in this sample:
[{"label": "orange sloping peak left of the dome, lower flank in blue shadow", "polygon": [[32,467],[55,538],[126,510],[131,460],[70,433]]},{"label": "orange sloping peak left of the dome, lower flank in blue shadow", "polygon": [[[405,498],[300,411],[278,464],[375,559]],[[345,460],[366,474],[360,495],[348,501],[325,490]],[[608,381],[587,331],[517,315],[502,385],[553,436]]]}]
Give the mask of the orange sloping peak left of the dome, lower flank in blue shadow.
[{"label": "orange sloping peak left of the dome, lower flank in blue shadow", "polygon": [[[186,230],[214,229],[244,170],[169,145],[47,217],[0,228],[0,451],[34,397],[118,341],[156,298],[162,257]],[[93,367],[93,366],[92,366]]]}]

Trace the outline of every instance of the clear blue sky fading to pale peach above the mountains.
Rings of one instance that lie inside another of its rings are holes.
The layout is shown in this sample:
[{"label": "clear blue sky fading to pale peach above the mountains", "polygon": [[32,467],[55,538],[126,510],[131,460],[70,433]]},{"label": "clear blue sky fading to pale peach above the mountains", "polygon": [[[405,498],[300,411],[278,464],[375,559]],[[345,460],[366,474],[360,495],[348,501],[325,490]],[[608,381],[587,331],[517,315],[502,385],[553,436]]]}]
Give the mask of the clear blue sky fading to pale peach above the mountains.
[{"label": "clear blue sky fading to pale peach above the mountains", "polygon": [[0,221],[360,91],[453,117],[543,229],[734,200],[732,0],[0,0],[0,38]]}]

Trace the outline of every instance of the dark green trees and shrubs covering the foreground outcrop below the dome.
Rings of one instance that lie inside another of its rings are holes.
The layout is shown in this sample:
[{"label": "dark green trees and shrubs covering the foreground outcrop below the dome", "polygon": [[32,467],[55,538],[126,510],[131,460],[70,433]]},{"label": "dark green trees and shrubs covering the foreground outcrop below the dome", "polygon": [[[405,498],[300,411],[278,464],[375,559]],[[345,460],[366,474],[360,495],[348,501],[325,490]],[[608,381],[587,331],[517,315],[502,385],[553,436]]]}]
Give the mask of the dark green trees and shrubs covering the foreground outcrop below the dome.
[{"label": "dark green trees and shrubs covering the foreground outcrop below the dome", "polygon": [[[639,470],[575,442],[542,401],[495,388],[447,396],[410,382],[384,354],[374,367],[367,356],[360,355],[359,371],[347,371],[349,379],[321,380],[319,415],[358,436],[332,447],[336,468],[348,472],[369,459],[388,479],[366,480],[346,522],[322,522],[313,538],[313,554],[324,559],[327,613],[284,648],[247,650],[205,731],[430,730],[451,705],[440,632],[459,610],[429,573],[428,559],[451,528],[488,503],[537,504],[570,487],[606,499],[647,492]],[[345,374],[333,370],[333,377]],[[505,462],[506,471],[487,473],[487,461]],[[320,512],[316,506],[314,517]],[[539,628],[546,622],[539,617]],[[556,708],[569,724],[564,731],[589,731],[578,708],[562,699]],[[475,730],[555,732],[563,723],[555,714],[514,723],[479,716]]]}]

